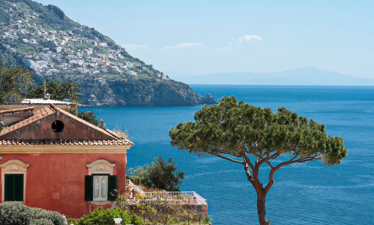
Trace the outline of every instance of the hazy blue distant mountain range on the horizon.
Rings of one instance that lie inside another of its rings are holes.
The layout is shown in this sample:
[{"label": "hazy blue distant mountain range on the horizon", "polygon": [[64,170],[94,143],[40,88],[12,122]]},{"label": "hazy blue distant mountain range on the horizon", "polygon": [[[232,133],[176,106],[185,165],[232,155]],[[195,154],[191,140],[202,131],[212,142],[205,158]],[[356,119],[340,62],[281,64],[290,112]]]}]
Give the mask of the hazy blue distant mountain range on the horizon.
[{"label": "hazy blue distant mountain range on the horizon", "polygon": [[275,73],[213,73],[190,77],[180,76],[178,80],[188,84],[374,85],[374,79],[343,75],[338,72],[321,70],[313,66]]}]

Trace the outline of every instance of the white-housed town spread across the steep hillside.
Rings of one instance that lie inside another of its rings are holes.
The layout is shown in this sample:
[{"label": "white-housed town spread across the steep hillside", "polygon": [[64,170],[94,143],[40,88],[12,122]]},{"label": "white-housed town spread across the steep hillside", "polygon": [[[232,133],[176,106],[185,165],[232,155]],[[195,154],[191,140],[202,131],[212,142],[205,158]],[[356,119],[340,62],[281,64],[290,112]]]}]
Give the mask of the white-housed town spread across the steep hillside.
[{"label": "white-housed town spread across the steep hillside", "polygon": [[[69,31],[43,28],[39,25],[40,15],[28,13],[25,3],[13,3],[6,10],[10,24],[1,26],[0,43],[7,51],[18,54],[23,66],[32,69],[36,76],[95,76],[95,82],[106,83],[106,79],[136,78],[142,72],[142,65],[126,61],[121,54],[123,49],[113,48],[113,41],[79,34],[85,32],[84,27]],[[163,74],[156,77],[169,80]]]}]

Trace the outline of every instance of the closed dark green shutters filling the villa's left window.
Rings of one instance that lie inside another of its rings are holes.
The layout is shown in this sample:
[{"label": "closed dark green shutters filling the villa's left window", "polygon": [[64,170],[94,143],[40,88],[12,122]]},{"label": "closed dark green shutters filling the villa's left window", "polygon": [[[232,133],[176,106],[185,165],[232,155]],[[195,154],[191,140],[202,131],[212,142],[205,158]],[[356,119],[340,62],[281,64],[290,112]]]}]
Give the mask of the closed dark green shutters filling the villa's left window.
[{"label": "closed dark green shutters filling the villa's left window", "polygon": [[24,174],[4,174],[4,201],[23,201]]}]

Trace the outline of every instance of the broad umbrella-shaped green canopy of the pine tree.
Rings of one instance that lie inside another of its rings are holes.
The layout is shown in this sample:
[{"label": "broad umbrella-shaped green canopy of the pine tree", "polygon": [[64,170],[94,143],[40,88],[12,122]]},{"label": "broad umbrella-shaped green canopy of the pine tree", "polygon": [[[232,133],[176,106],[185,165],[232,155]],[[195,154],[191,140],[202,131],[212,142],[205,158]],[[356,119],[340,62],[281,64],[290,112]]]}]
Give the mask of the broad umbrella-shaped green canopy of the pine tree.
[{"label": "broad umbrella-shaped green canopy of the pine tree", "polygon": [[[270,161],[278,155],[297,156],[301,162],[315,155],[326,165],[335,165],[347,155],[340,137],[326,134],[325,125],[281,107],[277,113],[223,97],[218,105],[203,106],[194,115],[195,122],[171,128],[171,144],[198,155],[243,153]],[[273,157],[267,157],[276,154]],[[265,154],[265,155],[264,155]],[[243,159],[241,159],[243,162]],[[297,160],[295,158],[295,160]],[[310,160],[312,161],[312,160]]]}]

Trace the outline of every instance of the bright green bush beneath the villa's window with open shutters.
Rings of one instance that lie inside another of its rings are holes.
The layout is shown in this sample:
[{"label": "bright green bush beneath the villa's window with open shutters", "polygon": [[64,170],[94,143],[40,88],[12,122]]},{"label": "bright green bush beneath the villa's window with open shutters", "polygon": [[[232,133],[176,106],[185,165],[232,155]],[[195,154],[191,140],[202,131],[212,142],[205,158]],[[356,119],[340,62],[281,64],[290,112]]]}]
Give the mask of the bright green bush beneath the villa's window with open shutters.
[{"label": "bright green bush beneath the villa's window with open shutters", "polygon": [[122,218],[121,224],[143,225],[138,216],[129,215],[119,208],[104,210],[102,207],[84,215],[75,225],[110,225],[114,224],[113,218]]}]

